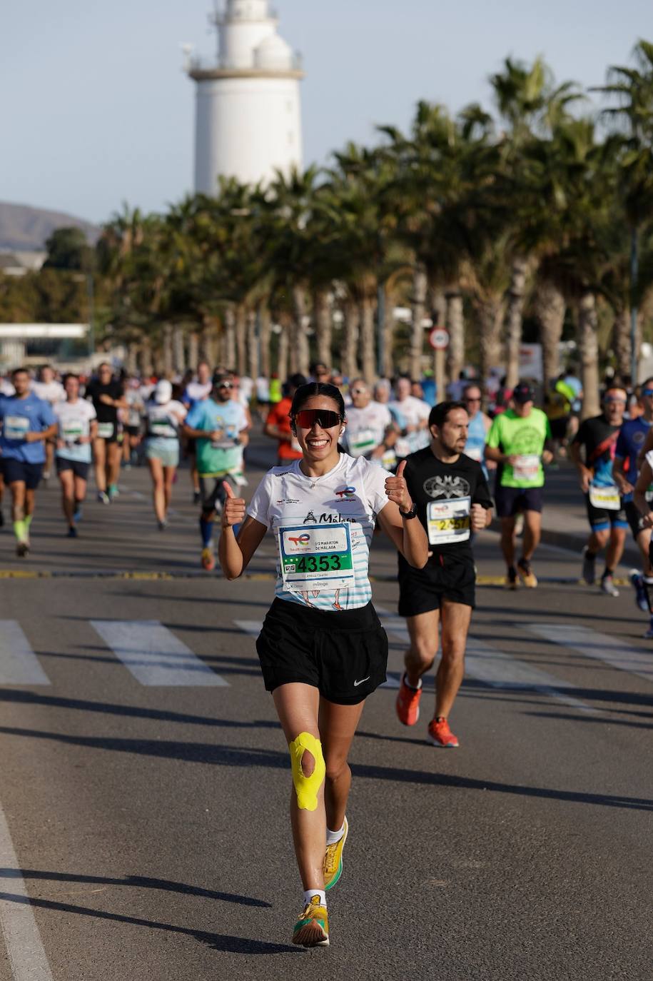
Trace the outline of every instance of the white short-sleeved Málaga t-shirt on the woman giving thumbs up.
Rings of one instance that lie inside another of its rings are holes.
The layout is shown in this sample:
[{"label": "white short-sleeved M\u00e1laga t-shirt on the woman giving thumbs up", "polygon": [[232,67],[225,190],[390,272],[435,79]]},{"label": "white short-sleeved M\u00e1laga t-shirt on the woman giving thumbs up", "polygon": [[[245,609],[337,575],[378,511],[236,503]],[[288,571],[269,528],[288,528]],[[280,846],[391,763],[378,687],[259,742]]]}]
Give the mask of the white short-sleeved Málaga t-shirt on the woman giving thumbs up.
[{"label": "white short-sleeved M\u00e1laga t-shirt on the woman giving thumbs up", "polygon": [[273,467],[247,508],[276,535],[275,594],[322,610],[365,606],[372,598],[370,543],[391,475],[347,453],[319,478],[306,477],[300,462]]}]

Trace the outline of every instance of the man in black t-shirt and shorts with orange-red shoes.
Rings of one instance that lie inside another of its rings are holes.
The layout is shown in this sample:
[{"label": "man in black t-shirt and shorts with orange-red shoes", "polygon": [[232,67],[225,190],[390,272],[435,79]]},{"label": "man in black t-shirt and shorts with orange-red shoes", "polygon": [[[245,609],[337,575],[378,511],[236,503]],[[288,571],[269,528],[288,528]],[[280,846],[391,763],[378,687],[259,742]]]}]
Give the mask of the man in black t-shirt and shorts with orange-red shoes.
[{"label": "man in black t-shirt and shorts with orange-red shoes", "polygon": [[411,453],[404,471],[430,552],[424,569],[412,569],[399,559],[399,614],[406,617],[411,645],[396,708],[404,725],[418,721],[422,675],[435,659],[441,623],[435,716],[428,726],[428,739],[437,747],[458,746],[448,715],[465,674],[465,645],[476,601],[471,538],[492,518],[492,498],[481,466],[463,453],[469,422],[464,402],[435,405],[428,417],[430,445]]}]

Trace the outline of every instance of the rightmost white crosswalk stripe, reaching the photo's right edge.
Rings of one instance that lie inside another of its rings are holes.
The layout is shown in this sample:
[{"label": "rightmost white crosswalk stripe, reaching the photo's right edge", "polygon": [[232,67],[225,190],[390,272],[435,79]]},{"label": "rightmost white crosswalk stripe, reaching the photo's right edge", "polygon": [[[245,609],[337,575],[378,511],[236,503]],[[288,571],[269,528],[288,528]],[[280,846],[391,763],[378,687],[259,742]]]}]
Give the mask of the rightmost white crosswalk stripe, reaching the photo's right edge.
[{"label": "rightmost white crosswalk stripe, reaching the photo's right edge", "polygon": [[531,623],[526,625],[526,629],[529,634],[535,634],[545,641],[578,650],[585,657],[603,661],[610,667],[628,671],[635,678],[653,682],[653,647],[635,647],[620,637],[566,623]]}]

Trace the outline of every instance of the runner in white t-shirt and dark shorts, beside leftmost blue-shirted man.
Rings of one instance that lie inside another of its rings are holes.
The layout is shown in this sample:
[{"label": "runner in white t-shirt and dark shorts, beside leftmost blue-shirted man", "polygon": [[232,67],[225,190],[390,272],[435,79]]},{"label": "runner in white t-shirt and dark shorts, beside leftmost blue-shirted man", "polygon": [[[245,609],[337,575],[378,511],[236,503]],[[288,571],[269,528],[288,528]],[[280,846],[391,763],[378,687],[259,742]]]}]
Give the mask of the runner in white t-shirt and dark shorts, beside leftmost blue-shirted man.
[{"label": "runner in white t-shirt and dark shorts, beside leftmost blue-shirted man", "polygon": [[91,402],[79,397],[79,376],[64,378],[66,401],[57,402],[57,476],[69,539],[77,537],[77,522],[86,497],[91,445],[97,437],[97,415]]}]

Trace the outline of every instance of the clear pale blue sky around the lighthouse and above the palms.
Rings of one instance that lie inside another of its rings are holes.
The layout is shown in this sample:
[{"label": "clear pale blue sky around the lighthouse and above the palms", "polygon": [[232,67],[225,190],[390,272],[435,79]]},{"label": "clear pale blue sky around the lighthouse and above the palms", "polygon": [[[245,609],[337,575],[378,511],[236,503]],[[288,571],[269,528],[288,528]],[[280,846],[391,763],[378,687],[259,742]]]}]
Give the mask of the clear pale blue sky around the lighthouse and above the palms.
[{"label": "clear pale blue sky around the lighthouse and above the palms", "polygon": [[[276,0],[305,58],[305,163],[418,99],[489,105],[506,55],[544,55],[600,84],[653,39],[650,0]],[[3,11],[0,199],[103,221],[123,201],[161,210],[191,189],[194,85],[179,43],[211,54],[210,0],[32,0]]]}]

